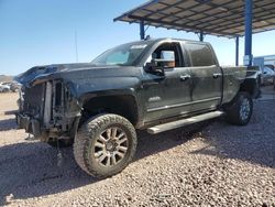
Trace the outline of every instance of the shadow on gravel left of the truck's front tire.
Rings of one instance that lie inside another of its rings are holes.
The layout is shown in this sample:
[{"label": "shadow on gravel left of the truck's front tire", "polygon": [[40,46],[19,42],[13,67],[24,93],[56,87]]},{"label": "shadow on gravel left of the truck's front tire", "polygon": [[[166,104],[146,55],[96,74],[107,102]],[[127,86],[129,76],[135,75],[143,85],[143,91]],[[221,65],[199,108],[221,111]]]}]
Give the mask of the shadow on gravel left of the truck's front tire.
[{"label": "shadow on gravel left of the truck's front tire", "polygon": [[51,195],[97,182],[76,165],[72,148],[57,150],[41,142],[0,148],[0,206],[12,194],[15,199]]}]

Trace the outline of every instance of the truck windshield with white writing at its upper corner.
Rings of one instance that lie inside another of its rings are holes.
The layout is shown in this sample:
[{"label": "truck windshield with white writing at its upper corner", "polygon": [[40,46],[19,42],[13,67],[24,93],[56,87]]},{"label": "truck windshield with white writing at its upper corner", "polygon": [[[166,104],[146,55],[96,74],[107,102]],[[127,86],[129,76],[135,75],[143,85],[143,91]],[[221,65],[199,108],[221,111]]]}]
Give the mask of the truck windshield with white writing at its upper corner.
[{"label": "truck windshield with white writing at its upper corner", "polygon": [[147,47],[147,43],[129,43],[111,48],[95,58],[94,65],[120,65],[133,66],[134,62],[141,56]]}]

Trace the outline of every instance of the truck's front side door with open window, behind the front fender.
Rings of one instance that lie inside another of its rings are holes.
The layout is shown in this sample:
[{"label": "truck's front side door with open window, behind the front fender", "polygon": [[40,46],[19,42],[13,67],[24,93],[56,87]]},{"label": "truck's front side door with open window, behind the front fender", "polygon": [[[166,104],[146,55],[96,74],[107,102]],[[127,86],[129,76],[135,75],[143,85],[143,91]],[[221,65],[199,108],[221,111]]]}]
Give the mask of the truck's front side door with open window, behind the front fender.
[{"label": "truck's front side door with open window, behind the front fender", "polygon": [[163,74],[153,70],[144,74],[145,122],[184,116],[190,111],[190,70],[184,67],[182,47],[179,43],[161,44],[152,53],[153,61],[162,61],[163,52],[173,52],[175,59],[166,66],[157,63]]}]

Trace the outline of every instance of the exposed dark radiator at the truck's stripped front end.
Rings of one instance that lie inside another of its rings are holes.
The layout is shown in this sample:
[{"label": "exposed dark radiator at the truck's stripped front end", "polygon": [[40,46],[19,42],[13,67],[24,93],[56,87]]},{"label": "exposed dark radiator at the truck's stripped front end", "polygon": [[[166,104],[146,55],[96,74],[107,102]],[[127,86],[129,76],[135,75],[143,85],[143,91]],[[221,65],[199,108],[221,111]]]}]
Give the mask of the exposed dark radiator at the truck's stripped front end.
[{"label": "exposed dark radiator at the truck's stripped front end", "polygon": [[21,111],[33,118],[40,119],[43,116],[45,84],[31,88],[22,87]]}]

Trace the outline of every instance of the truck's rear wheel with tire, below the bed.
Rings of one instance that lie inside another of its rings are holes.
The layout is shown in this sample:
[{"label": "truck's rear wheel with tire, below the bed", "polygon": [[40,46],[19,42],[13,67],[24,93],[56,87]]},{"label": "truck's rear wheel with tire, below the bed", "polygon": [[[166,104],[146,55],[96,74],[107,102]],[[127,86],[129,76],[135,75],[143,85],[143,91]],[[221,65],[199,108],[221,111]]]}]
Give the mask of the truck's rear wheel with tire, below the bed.
[{"label": "truck's rear wheel with tire, below the bed", "polygon": [[237,126],[246,126],[253,112],[253,100],[249,92],[239,92],[232,106],[226,109],[227,120]]}]

